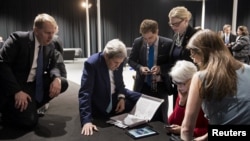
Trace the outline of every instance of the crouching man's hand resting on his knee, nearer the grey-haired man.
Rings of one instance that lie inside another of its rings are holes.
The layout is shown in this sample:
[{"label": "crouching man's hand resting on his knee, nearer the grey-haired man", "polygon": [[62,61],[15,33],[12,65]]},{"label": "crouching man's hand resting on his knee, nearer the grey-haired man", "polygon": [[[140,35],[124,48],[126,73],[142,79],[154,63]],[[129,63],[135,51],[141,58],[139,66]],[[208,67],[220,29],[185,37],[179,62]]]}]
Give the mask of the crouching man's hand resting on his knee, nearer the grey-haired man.
[{"label": "crouching man's hand resting on his knee, nearer the grey-haired man", "polygon": [[57,97],[61,92],[61,79],[56,77],[53,82],[50,84],[49,97]]}]

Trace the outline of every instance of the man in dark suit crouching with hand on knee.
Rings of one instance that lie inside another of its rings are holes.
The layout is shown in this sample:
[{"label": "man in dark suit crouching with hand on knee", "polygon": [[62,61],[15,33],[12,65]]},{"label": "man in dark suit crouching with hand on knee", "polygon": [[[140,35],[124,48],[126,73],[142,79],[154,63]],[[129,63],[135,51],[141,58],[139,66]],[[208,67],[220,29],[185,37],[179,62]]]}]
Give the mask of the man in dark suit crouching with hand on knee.
[{"label": "man in dark suit crouching with hand on knee", "polygon": [[[53,17],[39,14],[33,31],[12,33],[1,48],[0,110],[4,123],[33,129],[38,123],[37,109],[68,88],[66,76],[60,72],[65,67],[62,56],[52,44],[57,28]],[[40,49],[43,55],[38,55]],[[39,56],[43,56],[42,65],[37,61]],[[43,80],[40,99],[36,97],[38,66]]]}]

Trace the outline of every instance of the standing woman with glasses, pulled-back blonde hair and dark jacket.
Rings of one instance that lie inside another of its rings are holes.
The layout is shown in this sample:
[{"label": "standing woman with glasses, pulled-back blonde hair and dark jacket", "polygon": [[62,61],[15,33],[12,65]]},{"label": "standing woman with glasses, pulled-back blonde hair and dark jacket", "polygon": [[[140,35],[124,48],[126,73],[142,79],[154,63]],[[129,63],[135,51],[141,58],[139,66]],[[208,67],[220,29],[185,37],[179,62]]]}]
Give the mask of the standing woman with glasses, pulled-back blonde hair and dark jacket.
[{"label": "standing woman with glasses, pulled-back blonde hair and dark jacket", "polygon": [[[191,38],[191,36],[197,31],[190,24],[189,21],[192,18],[191,12],[183,7],[174,7],[168,14],[169,26],[174,31],[173,44],[169,52],[169,64],[173,66],[177,60],[187,60],[191,61],[189,57],[190,52],[186,49],[186,45]],[[177,98],[177,88],[174,85],[173,97],[175,104],[175,99]]]}]

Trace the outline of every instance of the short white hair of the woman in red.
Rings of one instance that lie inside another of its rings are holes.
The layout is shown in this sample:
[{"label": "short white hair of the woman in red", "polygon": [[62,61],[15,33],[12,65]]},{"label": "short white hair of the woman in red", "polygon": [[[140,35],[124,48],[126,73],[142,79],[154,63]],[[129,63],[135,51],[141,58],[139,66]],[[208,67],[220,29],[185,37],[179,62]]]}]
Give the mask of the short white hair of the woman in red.
[{"label": "short white hair of the woman in red", "polygon": [[195,72],[197,72],[197,67],[194,63],[186,60],[179,60],[171,68],[169,75],[172,77],[173,81],[182,83],[191,79]]}]

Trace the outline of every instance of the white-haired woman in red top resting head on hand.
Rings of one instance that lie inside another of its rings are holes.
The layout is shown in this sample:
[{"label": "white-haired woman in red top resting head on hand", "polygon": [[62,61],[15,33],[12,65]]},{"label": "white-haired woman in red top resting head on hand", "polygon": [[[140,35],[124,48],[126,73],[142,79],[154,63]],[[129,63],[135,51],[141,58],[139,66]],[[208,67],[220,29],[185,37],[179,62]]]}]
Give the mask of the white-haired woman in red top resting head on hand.
[{"label": "white-haired woman in red top resting head on hand", "polygon": [[[167,132],[180,135],[181,123],[185,115],[186,102],[189,92],[191,78],[197,72],[197,67],[190,61],[180,60],[172,67],[169,75],[172,77],[173,83],[177,85],[178,97],[175,102],[173,112],[168,118],[169,128]],[[204,117],[203,111],[200,109],[196,127],[194,129],[194,137],[202,136],[207,133],[208,121]]]}]

